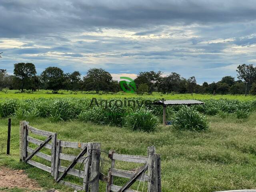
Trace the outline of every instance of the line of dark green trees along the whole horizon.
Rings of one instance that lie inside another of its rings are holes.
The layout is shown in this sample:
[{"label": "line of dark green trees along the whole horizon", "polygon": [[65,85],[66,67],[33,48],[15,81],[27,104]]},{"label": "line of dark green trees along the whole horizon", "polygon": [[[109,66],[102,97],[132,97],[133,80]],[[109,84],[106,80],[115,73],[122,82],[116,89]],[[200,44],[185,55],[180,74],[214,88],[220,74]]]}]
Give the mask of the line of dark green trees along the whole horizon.
[{"label": "line of dark green trees along the whole horizon", "polygon": [[[137,94],[162,92],[201,93],[201,94],[256,94],[256,67],[252,64],[242,64],[237,67],[238,80],[232,76],[224,76],[218,82],[202,85],[196,83],[194,76],[186,79],[176,72],[163,76],[161,71],[146,71],[138,73],[134,79]],[[120,82],[113,80],[111,74],[102,68],[91,68],[82,77],[79,71],[64,73],[59,67],[48,67],[37,75],[32,63],[14,64],[13,75],[8,75],[6,69],[0,69],[0,90],[3,88],[36,91],[39,89],[73,91],[118,92],[122,91]],[[129,89],[129,86],[126,85]]]}]

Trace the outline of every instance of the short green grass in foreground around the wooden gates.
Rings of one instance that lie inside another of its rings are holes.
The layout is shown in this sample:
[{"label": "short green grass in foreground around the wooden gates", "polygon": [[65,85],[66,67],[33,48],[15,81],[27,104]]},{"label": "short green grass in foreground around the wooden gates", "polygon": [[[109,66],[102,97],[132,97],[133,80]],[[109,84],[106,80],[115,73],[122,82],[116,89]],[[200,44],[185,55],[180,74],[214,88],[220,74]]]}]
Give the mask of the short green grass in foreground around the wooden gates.
[{"label": "short green grass in foreground around the wooden gates", "polygon": [[[101,142],[102,150],[114,149],[121,154],[147,155],[147,147],[156,146],[162,159],[163,192],[256,188],[256,113],[252,112],[246,120],[217,116],[208,116],[208,120],[210,128],[204,132],[180,131],[171,126],[160,127],[158,132],[135,132],[78,120],[54,123],[45,118],[31,120],[30,125],[57,132],[62,140]],[[0,120],[0,166],[25,169],[45,189],[70,191],[68,187],[54,183],[50,174],[19,162],[18,130],[18,120],[13,120],[11,155],[6,156],[7,119]],[[102,158],[108,160],[104,152]],[[109,166],[109,162],[104,162],[105,174]],[[117,161],[117,168],[129,170],[133,166]],[[124,182],[122,179],[115,180],[115,184]],[[137,184],[134,189],[137,189]],[[105,191],[104,183],[100,184],[100,191]]]}]

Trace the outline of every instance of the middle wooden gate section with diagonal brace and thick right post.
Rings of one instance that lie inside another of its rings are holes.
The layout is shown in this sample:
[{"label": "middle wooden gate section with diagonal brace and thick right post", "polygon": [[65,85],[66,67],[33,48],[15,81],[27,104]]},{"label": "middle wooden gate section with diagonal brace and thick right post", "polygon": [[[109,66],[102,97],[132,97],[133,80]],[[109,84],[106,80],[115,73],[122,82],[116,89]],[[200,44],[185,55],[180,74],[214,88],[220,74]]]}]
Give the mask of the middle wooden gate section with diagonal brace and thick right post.
[{"label": "middle wooden gate section with diagonal brace and thick right post", "polygon": [[[80,153],[77,156],[74,156],[71,154],[64,154],[62,153],[63,148],[80,149]],[[96,149],[96,150],[93,150],[93,149]],[[70,161],[71,163],[67,167],[63,167],[61,166],[61,160],[67,160],[67,161]],[[95,182],[98,181],[98,178],[96,179],[94,178],[95,177],[94,172],[95,172],[95,169],[98,169],[99,171],[99,166],[97,163],[96,164],[93,163],[94,161],[97,161],[97,160],[99,164],[100,143],[79,143],[79,142],[68,142],[68,141],[57,140],[54,179],[56,180],[56,182],[61,182],[63,184],[71,186],[76,190],[89,191],[89,186],[90,188],[94,188],[95,185],[97,185],[95,184]],[[73,168],[77,163],[83,164],[83,171]],[[59,174],[59,172],[62,172],[62,174]],[[66,176],[66,174],[70,174],[70,175],[82,178],[83,185],[80,186],[78,184],[73,184],[73,183],[62,180]],[[96,190],[93,190],[93,191],[96,191]]]}]

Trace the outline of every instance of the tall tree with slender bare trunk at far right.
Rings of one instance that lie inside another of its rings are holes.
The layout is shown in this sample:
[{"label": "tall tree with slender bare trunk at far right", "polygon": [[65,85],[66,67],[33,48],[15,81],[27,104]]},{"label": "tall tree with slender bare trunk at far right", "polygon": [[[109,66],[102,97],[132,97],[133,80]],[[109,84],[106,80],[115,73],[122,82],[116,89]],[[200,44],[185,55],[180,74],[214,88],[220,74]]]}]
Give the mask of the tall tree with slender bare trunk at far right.
[{"label": "tall tree with slender bare trunk at far right", "polygon": [[236,72],[238,72],[238,79],[244,80],[245,83],[245,96],[247,96],[247,87],[248,84],[256,80],[256,68],[250,64],[242,64],[237,67]]}]

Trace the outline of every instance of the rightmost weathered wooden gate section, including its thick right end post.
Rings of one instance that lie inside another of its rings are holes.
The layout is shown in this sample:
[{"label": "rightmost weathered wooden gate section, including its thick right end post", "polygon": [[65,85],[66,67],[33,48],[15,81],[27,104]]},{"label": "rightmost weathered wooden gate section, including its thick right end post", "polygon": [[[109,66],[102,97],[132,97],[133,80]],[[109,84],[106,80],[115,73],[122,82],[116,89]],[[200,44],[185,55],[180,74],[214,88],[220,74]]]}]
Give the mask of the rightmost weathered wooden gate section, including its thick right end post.
[{"label": "rightmost weathered wooden gate section, including its thick right end post", "polygon": [[[124,155],[117,154],[114,150],[110,150],[109,158],[111,158],[111,168],[108,171],[108,182],[106,192],[137,192],[136,190],[130,189],[130,186],[136,182],[148,182],[148,192],[161,192],[161,162],[160,155],[156,154],[155,147],[148,147],[148,156],[135,156],[135,155]],[[144,165],[136,171],[120,170],[115,168],[116,160],[133,163],[143,163]],[[146,173],[147,171],[147,173]],[[124,186],[114,185],[114,176],[128,178],[128,182]]]}]

